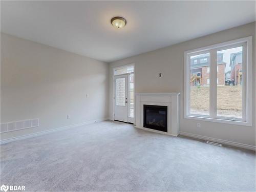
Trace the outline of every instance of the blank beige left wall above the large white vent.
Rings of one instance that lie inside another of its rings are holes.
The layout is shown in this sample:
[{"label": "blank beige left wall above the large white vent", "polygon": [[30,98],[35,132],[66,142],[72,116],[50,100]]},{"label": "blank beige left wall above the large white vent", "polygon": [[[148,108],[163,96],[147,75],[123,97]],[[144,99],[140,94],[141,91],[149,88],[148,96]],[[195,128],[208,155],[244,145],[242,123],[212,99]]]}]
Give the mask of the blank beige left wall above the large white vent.
[{"label": "blank beige left wall above the large white vent", "polygon": [[1,33],[1,122],[40,123],[1,139],[107,118],[108,81],[108,63]]}]

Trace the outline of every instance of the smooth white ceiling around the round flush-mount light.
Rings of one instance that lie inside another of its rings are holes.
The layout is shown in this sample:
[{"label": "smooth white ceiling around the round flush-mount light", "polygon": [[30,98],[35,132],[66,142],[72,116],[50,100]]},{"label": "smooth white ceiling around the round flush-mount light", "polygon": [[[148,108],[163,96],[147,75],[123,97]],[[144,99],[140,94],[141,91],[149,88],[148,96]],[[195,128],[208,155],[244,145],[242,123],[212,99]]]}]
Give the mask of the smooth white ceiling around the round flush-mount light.
[{"label": "smooth white ceiling around the round flush-mount light", "polygon": [[253,21],[255,1],[1,1],[2,32],[106,62]]}]

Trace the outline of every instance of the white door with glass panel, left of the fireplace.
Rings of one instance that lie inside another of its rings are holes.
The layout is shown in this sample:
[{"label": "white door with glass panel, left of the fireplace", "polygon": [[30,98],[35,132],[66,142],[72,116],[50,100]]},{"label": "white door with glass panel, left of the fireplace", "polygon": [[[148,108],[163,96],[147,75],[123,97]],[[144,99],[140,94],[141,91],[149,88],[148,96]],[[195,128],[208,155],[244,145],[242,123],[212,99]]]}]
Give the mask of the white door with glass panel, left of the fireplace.
[{"label": "white door with glass panel, left of the fireplace", "polygon": [[118,75],[114,78],[115,84],[115,116],[118,121],[128,122],[128,76]]}]

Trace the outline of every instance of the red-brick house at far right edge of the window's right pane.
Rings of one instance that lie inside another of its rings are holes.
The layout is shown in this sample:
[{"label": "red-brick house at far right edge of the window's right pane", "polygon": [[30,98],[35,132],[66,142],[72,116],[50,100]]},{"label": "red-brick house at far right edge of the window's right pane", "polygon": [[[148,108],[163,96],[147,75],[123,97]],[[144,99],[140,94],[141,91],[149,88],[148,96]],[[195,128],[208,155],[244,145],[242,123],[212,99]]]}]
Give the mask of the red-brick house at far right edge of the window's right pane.
[{"label": "red-brick house at far right edge of the window's right pane", "polygon": [[242,84],[242,51],[230,54],[230,80],[233,85]]}]

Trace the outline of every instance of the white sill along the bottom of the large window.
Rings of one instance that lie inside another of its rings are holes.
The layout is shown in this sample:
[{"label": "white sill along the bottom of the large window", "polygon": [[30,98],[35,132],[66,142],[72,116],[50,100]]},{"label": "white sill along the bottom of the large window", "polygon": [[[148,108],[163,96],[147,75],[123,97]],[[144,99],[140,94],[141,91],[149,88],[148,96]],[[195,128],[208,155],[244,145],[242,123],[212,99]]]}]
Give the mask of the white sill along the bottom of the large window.
[{"label": "white sill along the bottom of the large window", "polygon": [[226,119],[214,119],[210,117],[198,117],[198,116],[185,116],[185,119],[193,119],[193,120],[200,120],[200,121],[209,121],[209,122],[217,122],[217,123],[226,123],[226,124],[235,124],[235,125],[243,125],[243,126],[252,126],[251,122],[244,122],[244,121],[232,121]]}]

